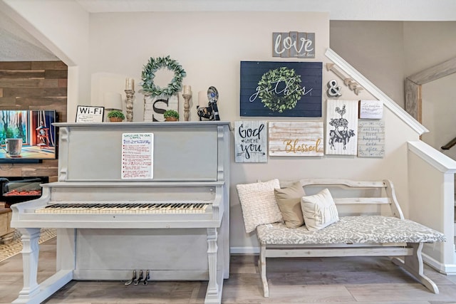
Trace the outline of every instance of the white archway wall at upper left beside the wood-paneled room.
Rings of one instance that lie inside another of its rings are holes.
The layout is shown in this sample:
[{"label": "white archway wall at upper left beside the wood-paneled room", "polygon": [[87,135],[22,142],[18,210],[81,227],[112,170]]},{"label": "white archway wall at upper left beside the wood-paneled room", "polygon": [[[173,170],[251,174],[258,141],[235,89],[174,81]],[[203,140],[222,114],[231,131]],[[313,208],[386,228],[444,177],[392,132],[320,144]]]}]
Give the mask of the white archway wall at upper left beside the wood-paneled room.
[{"label": "white archway wall at upper left beside the wood-paneled room", "polygon": [[68,65],[67,117],[90,104],[89,14],[74,1],[1,0],[0,9]]}]

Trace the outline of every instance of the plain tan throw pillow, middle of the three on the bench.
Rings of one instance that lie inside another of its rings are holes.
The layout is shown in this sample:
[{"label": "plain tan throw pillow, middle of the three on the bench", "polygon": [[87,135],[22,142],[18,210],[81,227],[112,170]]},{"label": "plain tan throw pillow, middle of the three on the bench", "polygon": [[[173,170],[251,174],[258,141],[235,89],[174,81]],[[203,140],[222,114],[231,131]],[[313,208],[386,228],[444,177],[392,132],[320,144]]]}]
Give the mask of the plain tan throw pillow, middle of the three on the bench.
[{"label": "plain tan throw pillow, middle of the three on the bench", "polygon": [[288,228],[297,228],[304,225],[304,217],[301,210],[301,197],[306,193],[301,182],[296,182],[291,187],[274,189],[277,205],[284,217],[285,225]]}]

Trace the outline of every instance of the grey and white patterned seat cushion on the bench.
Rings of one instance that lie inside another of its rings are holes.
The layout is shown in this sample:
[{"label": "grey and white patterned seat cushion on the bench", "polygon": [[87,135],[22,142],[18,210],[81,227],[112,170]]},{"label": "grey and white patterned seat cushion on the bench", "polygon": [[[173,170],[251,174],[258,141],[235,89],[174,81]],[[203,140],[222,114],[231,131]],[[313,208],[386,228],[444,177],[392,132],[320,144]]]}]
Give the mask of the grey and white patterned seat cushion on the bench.
[{"label": "grey and white patterned seat cushion on the bench", "polygon": [[408,219],[392,216],[341,216],[323,229],[306,226],[287,228],[276,223],[257,226],[261,245],[341,244],[341,243],[433,243],[445,235]]}]

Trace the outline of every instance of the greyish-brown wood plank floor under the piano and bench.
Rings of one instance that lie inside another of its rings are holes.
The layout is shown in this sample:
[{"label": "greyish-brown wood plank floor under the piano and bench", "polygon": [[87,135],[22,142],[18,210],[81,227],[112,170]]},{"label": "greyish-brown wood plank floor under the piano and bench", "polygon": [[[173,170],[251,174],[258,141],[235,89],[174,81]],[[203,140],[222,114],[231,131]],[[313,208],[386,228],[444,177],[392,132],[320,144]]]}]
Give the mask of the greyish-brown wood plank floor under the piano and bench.
[{"label": "greyish-brown wood plank floor under the piano and bench", "polygon": [[[263,298],[257,256],[232,256],[231,275],[224,282],[222,303],[456,303],[456,276],[429,267],[425,275],[440,288],[430,293],[388,258],[268,259],[269,298]],[[55,239],[41,244],[38,281],[55,271]],[[0,263],[0,304],[11,303],[22,287],[17,255]],[[204,303],[207,282],[72,281],[45,303]]]}]

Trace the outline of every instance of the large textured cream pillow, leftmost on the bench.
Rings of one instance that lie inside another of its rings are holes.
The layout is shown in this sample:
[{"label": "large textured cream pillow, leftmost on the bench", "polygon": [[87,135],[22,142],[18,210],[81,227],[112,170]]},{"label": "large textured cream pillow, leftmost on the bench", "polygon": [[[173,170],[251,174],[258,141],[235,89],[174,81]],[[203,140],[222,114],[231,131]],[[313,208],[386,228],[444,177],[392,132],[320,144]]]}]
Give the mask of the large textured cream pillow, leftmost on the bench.
[{"label": "large textured cream pillow, leftmost on the bench", "polygon": [[279,179],[236,185],[247,234],[257,229],[258,225],[283,221],[274,196],[276,188],[280,189]]}]

